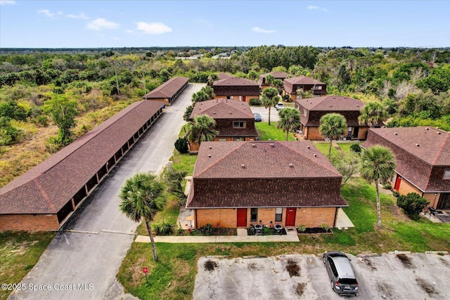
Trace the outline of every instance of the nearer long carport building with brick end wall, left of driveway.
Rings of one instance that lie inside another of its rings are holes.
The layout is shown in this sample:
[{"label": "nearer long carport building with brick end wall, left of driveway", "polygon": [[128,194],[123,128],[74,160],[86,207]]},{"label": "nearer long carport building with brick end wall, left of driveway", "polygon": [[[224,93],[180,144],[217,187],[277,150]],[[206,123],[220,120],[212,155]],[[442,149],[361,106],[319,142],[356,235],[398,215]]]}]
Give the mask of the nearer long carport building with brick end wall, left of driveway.
[{"label": "nearer long carport building with brick end wall, left of driveway", "polygon": [[132,103],[0,188],[0,230],[57,230],[161,114]]}]

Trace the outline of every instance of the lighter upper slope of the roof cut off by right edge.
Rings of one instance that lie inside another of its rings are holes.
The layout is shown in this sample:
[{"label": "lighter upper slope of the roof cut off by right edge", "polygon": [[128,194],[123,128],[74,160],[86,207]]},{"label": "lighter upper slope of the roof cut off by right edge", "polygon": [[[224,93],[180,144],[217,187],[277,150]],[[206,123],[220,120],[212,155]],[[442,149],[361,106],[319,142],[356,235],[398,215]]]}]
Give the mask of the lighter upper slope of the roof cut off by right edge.
[{"label": "lighter upper slope of the roof cut off by right edge", "polygon": [[378,135],[433,166],[450,166],[450,133],[433,127],[369,129],[364,148],[373,145],[369,138]]}]

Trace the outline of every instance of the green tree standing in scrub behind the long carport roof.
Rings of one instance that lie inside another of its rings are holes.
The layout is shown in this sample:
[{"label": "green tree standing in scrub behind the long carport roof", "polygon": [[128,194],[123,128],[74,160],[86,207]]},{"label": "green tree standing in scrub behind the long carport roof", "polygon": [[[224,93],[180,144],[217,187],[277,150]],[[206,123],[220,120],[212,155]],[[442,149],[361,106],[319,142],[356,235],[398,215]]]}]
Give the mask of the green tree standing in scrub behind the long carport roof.
[{"label": "green tree standing in scrub behind the long carport roof", "polygon": [[72,128],[77,124],[77,106],[76,100],[70,100],[64,95],[55,95],[44,103],[44,112],[50,113],[58,126],[58,143],[62,145],[68,145],[72,141]]}]

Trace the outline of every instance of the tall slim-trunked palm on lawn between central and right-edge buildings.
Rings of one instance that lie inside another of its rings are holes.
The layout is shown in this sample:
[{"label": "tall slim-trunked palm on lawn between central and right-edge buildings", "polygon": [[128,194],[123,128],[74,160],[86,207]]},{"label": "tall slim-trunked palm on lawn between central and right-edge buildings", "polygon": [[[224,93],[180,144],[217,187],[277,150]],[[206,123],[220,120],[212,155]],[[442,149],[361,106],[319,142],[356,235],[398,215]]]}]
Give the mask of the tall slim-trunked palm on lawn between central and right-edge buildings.
[{"label": "tall slim-trunked palm on lawn between central and right-edge buildings", "polygon": [[396,163],[394,154],[391,150],[374,145],[363,150],[361,154],[361,169],[359,173],[361,177],[367,181],[375,181],[375,190],[377,193],[377,214],[378,227],[381,227],[381,210],[380,210],[380,192],[378,191],[379,181],[387,181],[394,175]]}]

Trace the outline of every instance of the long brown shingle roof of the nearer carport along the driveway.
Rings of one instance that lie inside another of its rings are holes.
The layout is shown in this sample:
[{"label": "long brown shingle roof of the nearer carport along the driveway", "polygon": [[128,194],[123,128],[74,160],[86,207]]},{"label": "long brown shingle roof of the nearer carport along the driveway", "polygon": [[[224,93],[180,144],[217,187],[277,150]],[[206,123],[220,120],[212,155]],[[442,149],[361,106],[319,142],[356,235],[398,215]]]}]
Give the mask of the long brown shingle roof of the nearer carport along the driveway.
[{"label": "long brown shingle roof of the nearer carport along the driveway", "polygon": [[0,189],[0,214],[56,214],[161,108],[142,100]]}]

